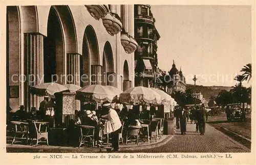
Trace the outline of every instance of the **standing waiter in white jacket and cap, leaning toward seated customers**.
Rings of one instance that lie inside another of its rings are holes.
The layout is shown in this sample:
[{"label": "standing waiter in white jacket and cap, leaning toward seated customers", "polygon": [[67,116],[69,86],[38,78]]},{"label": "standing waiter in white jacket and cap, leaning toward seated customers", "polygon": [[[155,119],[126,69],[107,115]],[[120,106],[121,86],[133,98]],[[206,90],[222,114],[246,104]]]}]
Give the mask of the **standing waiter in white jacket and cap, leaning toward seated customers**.
[{"label": "standing waiter in white jacket and cap, leaning toward seated customers", "polygon": [[122,126],[121,121],[115,109],[111,108],[110,103],[103,104],[102,106],[103,108],[109,109],[109,114],[101,117],[105,119],[109,119],[108,122],[110,123],[110,128],[109,128],[110,130],[108,130],[108,132],[111,132],[111,136],[112,136],[112,147],[113,147],[112,151],[118,151],[119,150],[119,131]]}]

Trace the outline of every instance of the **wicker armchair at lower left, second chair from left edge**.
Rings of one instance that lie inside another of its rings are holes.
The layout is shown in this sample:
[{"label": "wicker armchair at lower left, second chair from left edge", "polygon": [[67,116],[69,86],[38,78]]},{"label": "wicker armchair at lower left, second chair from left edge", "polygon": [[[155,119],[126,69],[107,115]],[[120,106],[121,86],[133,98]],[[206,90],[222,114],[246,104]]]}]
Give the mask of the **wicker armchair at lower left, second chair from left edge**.
[{"label": "wicker armchair at lower left, second chair from left edge", "polygon": [[[36,146],[38,145],[39,142],[42,142],[42,139],[45,139],[47,142],[47,145],[49,146],[48,143],[48,132],[47,132],[47,124],[44,122],[37,122],[35,120],[32,120],[32,123],[29,123],[29,134],[30,134],[30,139],[31,143],[33,142],[33,139],[36,139]],[[45,130],[41,130],[41,126],[46,125]]]}]

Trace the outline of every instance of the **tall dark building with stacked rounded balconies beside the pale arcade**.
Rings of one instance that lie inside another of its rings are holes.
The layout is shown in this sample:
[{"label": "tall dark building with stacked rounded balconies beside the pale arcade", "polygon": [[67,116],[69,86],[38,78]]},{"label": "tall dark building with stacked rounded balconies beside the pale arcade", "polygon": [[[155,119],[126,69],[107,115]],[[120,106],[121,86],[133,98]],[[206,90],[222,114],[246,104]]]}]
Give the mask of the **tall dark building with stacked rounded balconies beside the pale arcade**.
[{"label": "tall dark building with stacked rounded balconies beside the pale arcade", "polygon": [[134,5],[135,86],[156,87],[157,41],[160,38],[150,5]]}]

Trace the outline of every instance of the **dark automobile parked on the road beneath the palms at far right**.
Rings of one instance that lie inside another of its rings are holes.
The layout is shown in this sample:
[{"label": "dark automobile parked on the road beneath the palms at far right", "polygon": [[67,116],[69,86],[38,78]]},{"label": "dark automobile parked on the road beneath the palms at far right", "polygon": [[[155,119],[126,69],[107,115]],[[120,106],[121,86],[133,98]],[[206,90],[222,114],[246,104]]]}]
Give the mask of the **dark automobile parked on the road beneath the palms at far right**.
[{"label": "dark automobile parked on the road beneath the palms at far right", "polygon": [[226,109],[227,120],[245,120],[245,112],[241,108],[241,103],[228,104]]}]

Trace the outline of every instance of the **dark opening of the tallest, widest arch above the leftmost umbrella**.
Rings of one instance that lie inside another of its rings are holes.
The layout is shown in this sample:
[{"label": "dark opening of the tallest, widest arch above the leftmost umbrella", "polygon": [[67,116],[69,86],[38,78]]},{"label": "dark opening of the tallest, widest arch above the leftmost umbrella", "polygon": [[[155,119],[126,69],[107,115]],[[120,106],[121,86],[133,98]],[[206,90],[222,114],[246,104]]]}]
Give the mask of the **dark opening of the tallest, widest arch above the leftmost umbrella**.
[{"label": "dark opening of the tallest, widest arch above the leftmost umbrella", "polygon": [[[47,37],[44,39],[44,81],[53,82],[59,79],[60,72],[63,73],[63,60],[65,57],[64,38],[61,21],[56,10],[51,7],[48,24]],[[59,74],[57,74],[57,72]],[[58,76],[54,76],[57,74]]]}]

